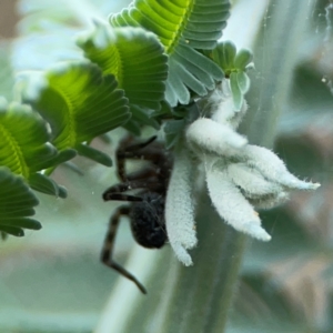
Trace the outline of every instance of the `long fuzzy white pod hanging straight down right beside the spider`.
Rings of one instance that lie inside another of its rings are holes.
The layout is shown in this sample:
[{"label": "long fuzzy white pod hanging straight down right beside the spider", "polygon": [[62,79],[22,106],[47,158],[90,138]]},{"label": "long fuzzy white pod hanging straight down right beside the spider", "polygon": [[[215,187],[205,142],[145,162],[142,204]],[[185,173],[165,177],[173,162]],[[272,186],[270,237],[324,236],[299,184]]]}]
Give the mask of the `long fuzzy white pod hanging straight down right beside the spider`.
[{"label": "long fuzzy white pod hanging straight down right beside the spider", "polygon": [[185,265],[192,260],[186,249],[196,245],[192,199],[194,164],[185,150],[175,151],[165,202],[165,224],[170,244]]}]

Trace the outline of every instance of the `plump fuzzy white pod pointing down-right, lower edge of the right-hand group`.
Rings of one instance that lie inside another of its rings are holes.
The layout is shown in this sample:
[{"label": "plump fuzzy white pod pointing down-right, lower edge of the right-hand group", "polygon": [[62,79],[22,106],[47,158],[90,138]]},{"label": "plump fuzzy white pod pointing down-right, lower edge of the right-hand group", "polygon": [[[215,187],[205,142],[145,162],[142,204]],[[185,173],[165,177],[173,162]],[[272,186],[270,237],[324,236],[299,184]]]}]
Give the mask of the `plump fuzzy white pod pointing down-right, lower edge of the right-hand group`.
[{"label": "plump fuzzy white pod pointing down-right, lower edge of the right-hand group", "polygon": [[259,214],[224,172],[208,169],[206,184],[218,213],[228,224],[261,241],[271,240],[261,228]]}]

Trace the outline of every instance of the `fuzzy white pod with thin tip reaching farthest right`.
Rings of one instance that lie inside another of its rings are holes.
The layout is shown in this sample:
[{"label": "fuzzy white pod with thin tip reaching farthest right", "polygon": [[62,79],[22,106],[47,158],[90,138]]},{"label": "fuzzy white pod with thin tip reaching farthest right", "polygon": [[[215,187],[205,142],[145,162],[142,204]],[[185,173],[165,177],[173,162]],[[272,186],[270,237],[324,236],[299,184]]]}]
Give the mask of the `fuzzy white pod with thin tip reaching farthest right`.
[{"label": "fuzzy white pod with thin tip reaching farthest right", "polygon": [[266,179],[287,189],[316,190],[320,184],[299,180],[291,174],[282,160],[269,149],[258,145],[246,145],[244,149],[246,163],[258,169]]}]

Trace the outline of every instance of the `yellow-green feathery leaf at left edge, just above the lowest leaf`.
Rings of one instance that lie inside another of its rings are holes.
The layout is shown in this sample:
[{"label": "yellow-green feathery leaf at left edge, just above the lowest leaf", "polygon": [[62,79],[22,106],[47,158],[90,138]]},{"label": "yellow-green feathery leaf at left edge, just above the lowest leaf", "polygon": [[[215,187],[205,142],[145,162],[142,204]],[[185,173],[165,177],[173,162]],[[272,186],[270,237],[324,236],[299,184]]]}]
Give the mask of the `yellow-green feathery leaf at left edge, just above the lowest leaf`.
[{"label": "yellow-green feathery leaf at left edge, just above the lowest leaf", "polygon": [[[37,172],[68,161],[75,153],[64,151],[59,154],[49,140],[50,134],[46,122],[29,105],[8,104],[3,99],[0,101],[0,165],[9,168],[14,174],[22,175],[31,184],[36,184],[36,179],[42,176],[44,183],[52,183],[54,190],[41,192],[64,196],[64,190],[60,191],[56,182]],[[37,191],[41,189],[33,185],[32,188]]]}]

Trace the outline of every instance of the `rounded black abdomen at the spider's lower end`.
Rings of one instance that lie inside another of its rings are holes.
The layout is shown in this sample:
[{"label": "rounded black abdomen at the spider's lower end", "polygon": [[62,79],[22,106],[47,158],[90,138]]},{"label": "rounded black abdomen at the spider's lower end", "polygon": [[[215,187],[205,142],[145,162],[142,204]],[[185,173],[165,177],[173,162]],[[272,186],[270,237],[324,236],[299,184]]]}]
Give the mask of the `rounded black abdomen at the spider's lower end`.
[{"label": "rounded black abdomen at the spider's lower end", "polygon": [[131,229],[133,236],[144,248],[162,248],[168,240],[164,198],[150,192],[142,194],[142,199],[143,201],[132,203]]}]

